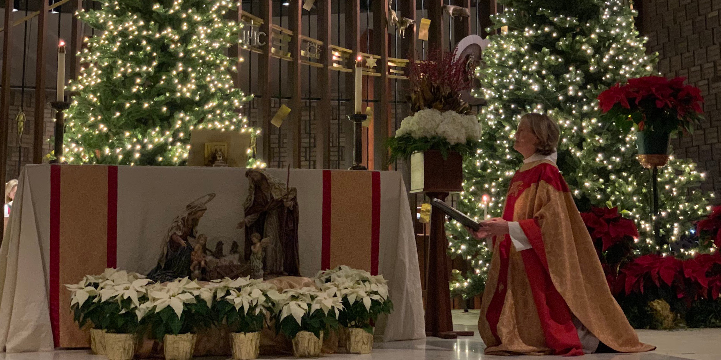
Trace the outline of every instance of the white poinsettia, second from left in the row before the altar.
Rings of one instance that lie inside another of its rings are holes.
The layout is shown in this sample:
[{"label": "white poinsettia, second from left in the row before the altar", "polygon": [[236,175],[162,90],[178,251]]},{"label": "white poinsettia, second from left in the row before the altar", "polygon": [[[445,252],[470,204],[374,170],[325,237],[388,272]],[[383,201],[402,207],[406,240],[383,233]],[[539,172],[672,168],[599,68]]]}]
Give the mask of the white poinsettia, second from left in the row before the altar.
[{"label": "white poinsettia, second from left in the row before the altar", "polygon": [[148,302],[141,304],[141,318],[151,327],[157,340],[165,335],[197,333],[213,325],[215,286],[200,286],[187,277],[148,287]]}]

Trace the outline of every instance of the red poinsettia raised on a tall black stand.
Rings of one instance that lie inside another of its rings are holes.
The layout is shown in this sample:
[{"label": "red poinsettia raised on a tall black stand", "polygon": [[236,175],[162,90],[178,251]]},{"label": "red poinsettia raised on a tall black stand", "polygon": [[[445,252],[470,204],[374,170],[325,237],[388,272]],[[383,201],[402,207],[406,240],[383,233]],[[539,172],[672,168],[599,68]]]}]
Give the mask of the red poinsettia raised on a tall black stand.
[{"label": "red poinsettia raised on a tall black stand", "polygon": [[703,117],[701,89],[684,85],[686,78],[645,76],[617,83],[598,95],[603,117],[622,130],[654,130],[666,133],[693,132]]}]

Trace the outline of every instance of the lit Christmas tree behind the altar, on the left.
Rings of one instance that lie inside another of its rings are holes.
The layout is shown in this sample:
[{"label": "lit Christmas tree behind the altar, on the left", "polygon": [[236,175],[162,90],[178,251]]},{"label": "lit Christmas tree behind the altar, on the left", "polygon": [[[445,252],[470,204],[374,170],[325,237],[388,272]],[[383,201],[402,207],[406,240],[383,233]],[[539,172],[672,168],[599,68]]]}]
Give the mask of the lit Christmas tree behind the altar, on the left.
[{"label": "lit Christmas tree behind the altar, on the left", "polygon": [[[101,0],[79,17],[102,35],[86,39],[81,73],[66,112],[69,163],[182,165],[190,130],[260,133],[239,112],[250,96],[235,89],[242,24],[227,0]],[[250,152],[250,150],[249,150]],[[249,166],[260,165],[251,159]]]}]

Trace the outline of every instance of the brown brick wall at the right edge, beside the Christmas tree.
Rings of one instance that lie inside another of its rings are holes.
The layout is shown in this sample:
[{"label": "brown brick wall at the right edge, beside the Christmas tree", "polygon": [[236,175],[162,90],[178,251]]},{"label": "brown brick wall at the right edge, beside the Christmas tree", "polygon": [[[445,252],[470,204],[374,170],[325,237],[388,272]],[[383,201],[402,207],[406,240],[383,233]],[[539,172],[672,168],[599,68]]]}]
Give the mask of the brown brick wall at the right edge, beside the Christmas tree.
[{"label": "brown brick wall at the right edge, beside the Christmas tree", "polygon": [[702,128],[672,141],[679,158],[691,158],[707,173],[702,189],[721,193],[721,0],[642,1],[642,35],[658,52],[658,70],[686,76],[702,89]]}]

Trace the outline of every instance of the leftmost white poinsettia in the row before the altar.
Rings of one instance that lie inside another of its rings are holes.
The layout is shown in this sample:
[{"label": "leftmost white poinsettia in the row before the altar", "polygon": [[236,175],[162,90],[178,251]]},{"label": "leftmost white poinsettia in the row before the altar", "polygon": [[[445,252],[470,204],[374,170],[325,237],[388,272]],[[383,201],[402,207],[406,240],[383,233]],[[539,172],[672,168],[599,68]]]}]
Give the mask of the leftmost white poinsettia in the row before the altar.
[{"label": "leftmost white poinsettia in the row before the altar", "polygon": [[81,328],[89,321],[109,333],[135,333],[141,328],[149,284],[141,274],[111,268],[84,276],[78,284],[66,285],[74,320]]}]

